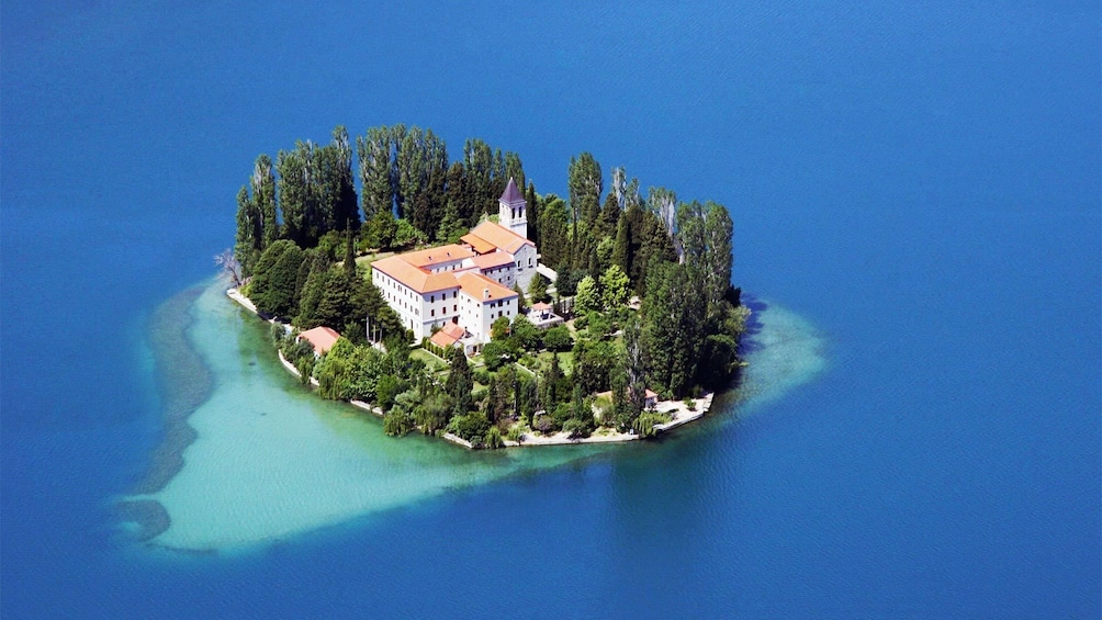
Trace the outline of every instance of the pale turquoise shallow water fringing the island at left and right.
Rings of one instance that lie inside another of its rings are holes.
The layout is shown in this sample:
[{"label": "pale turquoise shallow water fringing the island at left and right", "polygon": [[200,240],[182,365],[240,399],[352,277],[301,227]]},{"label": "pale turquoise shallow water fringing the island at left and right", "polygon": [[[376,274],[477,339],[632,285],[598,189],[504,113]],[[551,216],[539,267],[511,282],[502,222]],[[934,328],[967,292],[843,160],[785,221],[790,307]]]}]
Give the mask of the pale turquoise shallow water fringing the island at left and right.
[{"label": "pale turquoise shallow water fringing the island at left and right", "polygon": [[[810,324],[780,307],[756,306],[744,385],[721,396],[713,412],[723,424],[810,381],[825,365],[824,344]],[[223,282],[206,285],[188,313],[190,324],[161,322],[154,328],[186,327],[187,346],[212,378],[209,393],[186,418],[195,439],[184,447],[182,468],[162,489],[127,498],[155,500],[164,509],[170,524],[150,541],[158,546],[213,551],[267,545],[450,490],[579,459],[653,449],[625,445],[472,453],[419,435],[387,437],[377,418],[323,401],[300,385],[276,360],[267,324],[230,302]],[[175,341],[165,334],[153,334],[152,340],[162,347]],[[172,351],[154,355],[172,358]],[[197,374],[186,366],[161,372],[169,387],[194,382]],[[152,461],[162,463],[162,453],[181,447],[162,445]]]}]

